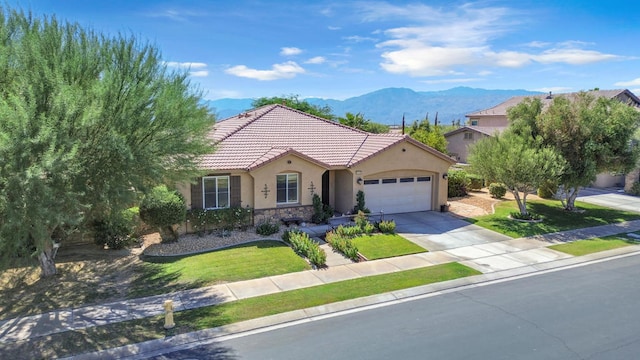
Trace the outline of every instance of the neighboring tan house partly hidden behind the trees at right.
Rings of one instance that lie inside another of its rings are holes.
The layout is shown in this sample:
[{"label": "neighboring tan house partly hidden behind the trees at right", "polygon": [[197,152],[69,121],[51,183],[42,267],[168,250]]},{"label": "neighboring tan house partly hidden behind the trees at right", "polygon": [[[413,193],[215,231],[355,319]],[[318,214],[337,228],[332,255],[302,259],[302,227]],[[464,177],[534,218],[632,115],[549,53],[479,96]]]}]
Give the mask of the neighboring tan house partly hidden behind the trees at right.
[{"label": "neighboring tan house partly hidden behind the trees at right", "polygon": [[[595,97],[617,99],[629,104],[629,106],[640,109],[640,99],[631,91],[626,89],[592,90],[589,91],[589,93]],[[546,107],[551,104],[555,97],[564,96],[571,99],[577,94],[578,93],[549,93],[541,95],[514,96],[492,108],[468,114],[466,115],[468,118],[466,126],[450,131],[444,135],[447,139],[447,151],[458,162],[466,163],[469,155],[469,145],[474,144],[486,135],[493,135],[496,132],[501,132],[509,126],[509,120],[507,119],[507,110],[509,108],[518,105],[526,98],[538,98],[542,100],[543,105]],[[622,183],[624,183],[623,176],[599,174],[594,186],[618,186]]]}]

